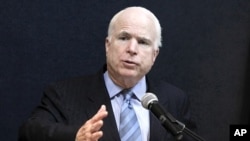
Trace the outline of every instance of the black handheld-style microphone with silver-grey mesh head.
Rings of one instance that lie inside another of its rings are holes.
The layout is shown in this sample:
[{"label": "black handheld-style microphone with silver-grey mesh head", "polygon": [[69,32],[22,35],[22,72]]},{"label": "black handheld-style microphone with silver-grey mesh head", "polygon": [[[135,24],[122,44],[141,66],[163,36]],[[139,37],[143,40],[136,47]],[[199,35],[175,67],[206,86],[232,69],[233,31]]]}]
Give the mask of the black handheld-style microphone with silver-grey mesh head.
[{"label": "black handheld-style microphone with silver-grey mesh head", "polygon": [[[161,122],[162,126],[169,131],[176,140],[181,140],[183,138],[182,131],[185,125],[174,117],[165,112],[162,106],[158,103],[158,98],[153,93],[146,93],[141,100],[142,106],[149,109]],[[178,127],[181,125],[181,128]]]}]

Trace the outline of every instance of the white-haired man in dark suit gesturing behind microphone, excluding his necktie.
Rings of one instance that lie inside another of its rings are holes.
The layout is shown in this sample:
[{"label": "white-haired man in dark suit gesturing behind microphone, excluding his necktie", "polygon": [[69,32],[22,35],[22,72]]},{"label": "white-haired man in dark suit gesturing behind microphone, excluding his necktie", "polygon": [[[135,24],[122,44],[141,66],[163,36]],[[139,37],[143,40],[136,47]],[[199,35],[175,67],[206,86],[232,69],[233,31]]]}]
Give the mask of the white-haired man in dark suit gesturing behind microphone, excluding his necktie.
[{"label": "white-haired man in dark suit gesturing behind microphone, excluding his necktie", "polygon": [[119,141],[124,89],[133,92],[130,101],[139,140],[173,139],[142,107],[146,92],[155,93],[178,120],[191,123],[186,95],[146,76],[161,47],[161,26],[153,13],[143,7],[118,12],[110,21],[105,47],[107,61],[99,72],[51,84],[44,91],[41,103],[21,126],[19,141]]}]

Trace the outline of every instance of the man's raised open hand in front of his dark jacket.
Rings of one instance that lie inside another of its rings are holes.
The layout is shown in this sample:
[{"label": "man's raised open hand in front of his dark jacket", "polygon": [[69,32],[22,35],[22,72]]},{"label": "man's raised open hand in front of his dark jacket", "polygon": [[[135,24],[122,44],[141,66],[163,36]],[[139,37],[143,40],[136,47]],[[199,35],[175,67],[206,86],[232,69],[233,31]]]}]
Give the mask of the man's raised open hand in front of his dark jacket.
[{"label": "man's raised open hand in front of his dark jacket", "polygon": [[102,105],[97,113],[78,130],[76,141],[97,141],[101,138],[103,132],[100,129],[103,126],[103,119],[107,115],[106,106]]}]

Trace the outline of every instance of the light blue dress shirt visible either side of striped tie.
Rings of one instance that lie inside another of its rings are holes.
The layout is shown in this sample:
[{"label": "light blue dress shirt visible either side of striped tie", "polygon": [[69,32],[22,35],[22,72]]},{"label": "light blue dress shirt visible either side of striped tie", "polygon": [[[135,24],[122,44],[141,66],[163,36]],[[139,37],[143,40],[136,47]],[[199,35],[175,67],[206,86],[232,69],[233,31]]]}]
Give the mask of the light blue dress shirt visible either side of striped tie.
[{"label": "light blue dress shirt visible either side of striped tie", "polygon": [[[120,125],[120,110],[123,103],[123,96],[119,95],[120,91],[123,88],[117,86],[109,77],[108,72],[104,73],[104,81],[106,88],[108,90],[113,112],[115,115],[116,125],[119,130]],[[136,99],[131,99],[131,104],[135,110],[140,128],[142,133],[142,140],[148,141],[149,140],[149,132],[150,132],[150,124],[149,124],[149,111],[142,107],[141,105],[141,98],[146,94],[147,85],[146,85],[146,78],[143,77],[133,88],[132,91],[134,92]],[[105,124],[105,123],[104,123]]]}]

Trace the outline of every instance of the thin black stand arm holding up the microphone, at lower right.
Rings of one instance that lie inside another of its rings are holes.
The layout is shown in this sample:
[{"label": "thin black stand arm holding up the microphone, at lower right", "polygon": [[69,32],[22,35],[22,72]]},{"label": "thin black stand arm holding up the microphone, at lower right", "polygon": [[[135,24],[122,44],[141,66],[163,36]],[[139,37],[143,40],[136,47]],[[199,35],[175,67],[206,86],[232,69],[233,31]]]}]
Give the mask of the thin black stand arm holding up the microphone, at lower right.
[{"label": "thin black stand arm holding up the microphone, at lower right", "polygon": [[181,123],[178,120],[175,120],[175,122],[179,127],[177,127],[177,129],[180,129],[179,133],[181,134],[182,132],[184,132],[185,134],[189,135],[190,137],[192,137],[193,139],[195,139],[196,141],[205,141],[202,137],[198,136],[196,133],[194,133],[193,131],[191,131],[190,129],[188,129],[185,124]]}]

